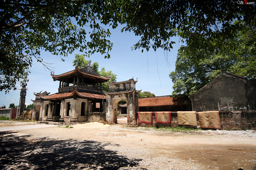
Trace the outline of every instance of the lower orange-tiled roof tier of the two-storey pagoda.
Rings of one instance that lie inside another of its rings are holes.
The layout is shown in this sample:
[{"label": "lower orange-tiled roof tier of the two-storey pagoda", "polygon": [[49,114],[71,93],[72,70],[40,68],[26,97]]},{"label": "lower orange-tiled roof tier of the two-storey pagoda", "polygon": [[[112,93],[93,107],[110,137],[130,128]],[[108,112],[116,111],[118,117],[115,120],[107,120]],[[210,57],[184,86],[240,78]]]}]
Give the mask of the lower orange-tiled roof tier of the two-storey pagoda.
[{"label": "lower orange-tiled roof tier of the two-storey pagoda", "polygon": [[85,93],[85,92],[78,92],[76,88],[74,88],[73,92],[67,92],[67,93],[55,93],[49,96],[42,96],[40,97],[44,100],[56,100],[56,99],[69,99],[73,97],[80,97],[80,98],[87,98],[87,99],[106,99],[106,96],[104,94],[91,94],[91,93]]}]

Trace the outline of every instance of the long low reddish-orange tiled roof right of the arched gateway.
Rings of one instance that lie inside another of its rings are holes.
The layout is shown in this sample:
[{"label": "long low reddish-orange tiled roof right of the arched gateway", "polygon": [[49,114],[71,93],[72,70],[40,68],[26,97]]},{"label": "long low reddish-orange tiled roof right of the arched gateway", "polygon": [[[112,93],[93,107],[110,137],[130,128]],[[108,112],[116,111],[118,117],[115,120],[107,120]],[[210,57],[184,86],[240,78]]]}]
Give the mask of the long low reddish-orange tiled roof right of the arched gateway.
[{"label": "long low reddish-orange tiled roof right of the arched gateway", "polygon": [[191,100],[188,98],[173,99],[172,96],[157,96],[139,98],[139,107],[147,106],[167,106],[167,105],[188,105]]}]

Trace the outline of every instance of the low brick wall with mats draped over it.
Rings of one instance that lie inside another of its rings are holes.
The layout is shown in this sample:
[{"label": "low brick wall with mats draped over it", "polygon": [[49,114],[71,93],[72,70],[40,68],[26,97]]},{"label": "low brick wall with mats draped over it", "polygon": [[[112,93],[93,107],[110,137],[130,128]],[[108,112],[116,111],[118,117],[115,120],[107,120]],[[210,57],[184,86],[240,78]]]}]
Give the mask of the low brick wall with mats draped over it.
[{"label": "low brick wall with mats draped over it", "polygon": [[[256,129],[256,111],[220,111],[221,129],[223,130],[244,130]],[[153,112],[153,124],[139,123],[138,113],[136,114],[137,126],[143,127],[177,127],[177,112],[171,112],[171,124],[155,123],[155,115]],[[200,128],[198,113],[196,113],[197,127]],[[193,126],[188,126],[193,127]],[[202,128],[203,129],[203,128]]]}]

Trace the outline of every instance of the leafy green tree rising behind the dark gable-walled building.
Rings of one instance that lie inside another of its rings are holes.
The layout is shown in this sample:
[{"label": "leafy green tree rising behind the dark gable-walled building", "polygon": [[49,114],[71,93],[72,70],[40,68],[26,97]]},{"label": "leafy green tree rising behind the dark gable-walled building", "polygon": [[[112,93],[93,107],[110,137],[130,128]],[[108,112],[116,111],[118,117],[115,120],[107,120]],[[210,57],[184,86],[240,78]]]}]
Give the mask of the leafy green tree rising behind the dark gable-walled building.
[{"label": "leafy green tree rising behind the dark gable-walled building", "polygon": [[247,46],[245,41],[248,39],[250,40],[247,34],[238,34],[234,39],[224,41],[227,44],[236,44],[239,49],[237,51],[223,52],[220,50],[217,54],[208,51],[202,54],[201,49],[197,49],[198,53],[204,55],[197,62],[194,61],[193,56],[188,55],[189,53],[180,50],[175,71],[169,74],[174,83],[172,95],[189,96],[195,93],[212,79],[218,77],[222,69],[227,69],[229,73],[248,79],[256,78],[254,47]]}]

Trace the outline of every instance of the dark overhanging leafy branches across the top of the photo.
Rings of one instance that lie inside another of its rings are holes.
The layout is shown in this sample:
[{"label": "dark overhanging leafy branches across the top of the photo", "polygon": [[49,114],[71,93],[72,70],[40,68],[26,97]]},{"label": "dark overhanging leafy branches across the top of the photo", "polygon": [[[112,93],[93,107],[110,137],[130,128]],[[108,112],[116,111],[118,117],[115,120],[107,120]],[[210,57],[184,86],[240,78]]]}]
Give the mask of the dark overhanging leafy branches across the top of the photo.
[{"label": "dark overhanging leafy branches across the top of the photo", "polygon": [[[174,36],[179,36],[193,55],[198,54],[196,49],[202,49],[201,53],[233,51],[236,45],[223,40],[233,38],[244,26],[256,25],[255,4],[239,2],[0,0],[0,91],[15,90],[17,82],[26,86],[32,57],[45,64],[39,57],[41,50],[62,56],[79,50],[88,57],[99,52],[109,58],[113,44],[104,25],[116,28],[118,23],[124,24],[122,31],[140,36],[133,49],[142,51],[170,51]],[[252,52],[256,53],[256,36],[252,36],[254,40],[247,45],[254,45]]]}]

